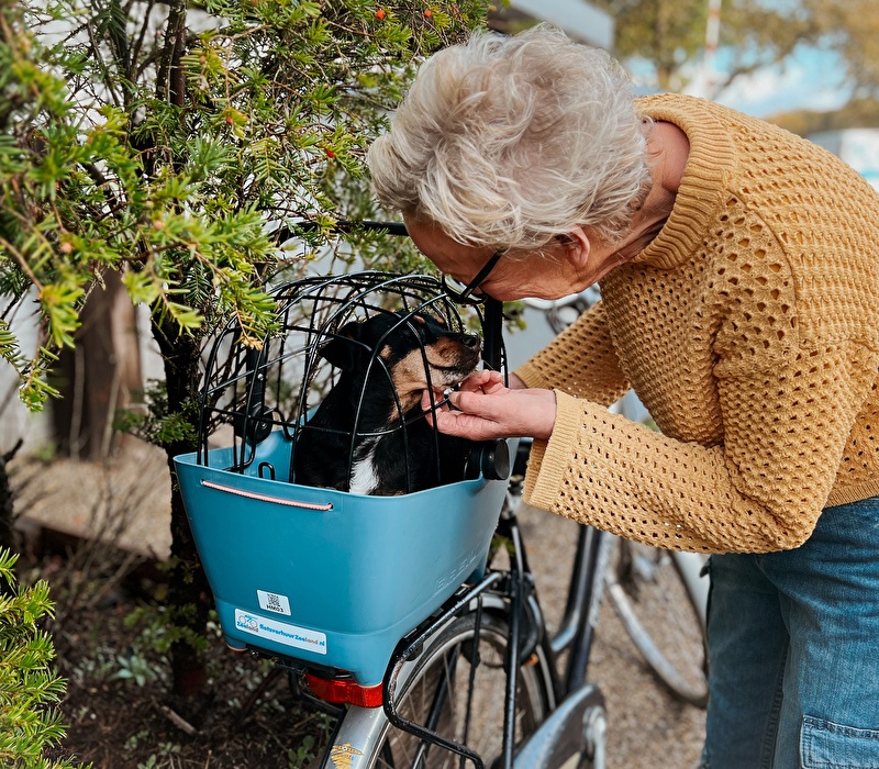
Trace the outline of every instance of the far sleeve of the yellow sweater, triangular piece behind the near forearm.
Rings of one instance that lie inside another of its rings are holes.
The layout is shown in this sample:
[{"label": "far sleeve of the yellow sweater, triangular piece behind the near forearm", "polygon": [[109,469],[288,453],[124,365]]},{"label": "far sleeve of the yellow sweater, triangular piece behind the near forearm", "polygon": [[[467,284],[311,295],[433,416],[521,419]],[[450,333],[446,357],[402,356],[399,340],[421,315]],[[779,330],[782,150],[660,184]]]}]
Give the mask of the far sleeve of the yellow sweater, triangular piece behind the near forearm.
[{"label": "far sleeve of the yellow sweater, triangular piece behind the near forearm", "polygon": [[628,390],[598,302],[515,370],[527,387],[557,388],[610,405]]}]

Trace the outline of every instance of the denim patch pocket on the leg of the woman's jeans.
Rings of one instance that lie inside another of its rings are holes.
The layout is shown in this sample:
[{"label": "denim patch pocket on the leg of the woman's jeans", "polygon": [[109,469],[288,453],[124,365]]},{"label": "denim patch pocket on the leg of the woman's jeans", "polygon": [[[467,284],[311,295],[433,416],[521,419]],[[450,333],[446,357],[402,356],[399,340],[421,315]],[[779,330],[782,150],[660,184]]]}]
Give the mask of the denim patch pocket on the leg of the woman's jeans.
[{"label": "denim patch pocket on the leg of the woman's jeans", "polygon": [[806,715],[800,755],[803,769],[879,769],[879,729],[857,729]]}]

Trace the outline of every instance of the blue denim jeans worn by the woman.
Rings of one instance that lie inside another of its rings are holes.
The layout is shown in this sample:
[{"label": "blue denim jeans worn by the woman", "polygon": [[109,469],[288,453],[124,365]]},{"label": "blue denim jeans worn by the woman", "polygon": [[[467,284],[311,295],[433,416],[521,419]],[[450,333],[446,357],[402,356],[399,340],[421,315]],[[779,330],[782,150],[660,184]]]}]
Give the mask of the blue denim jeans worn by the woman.
[{"label": "blue denim jeans worn by the woman", "polygon": [[710,559],[703,769],[879,769],[879,498]]}]

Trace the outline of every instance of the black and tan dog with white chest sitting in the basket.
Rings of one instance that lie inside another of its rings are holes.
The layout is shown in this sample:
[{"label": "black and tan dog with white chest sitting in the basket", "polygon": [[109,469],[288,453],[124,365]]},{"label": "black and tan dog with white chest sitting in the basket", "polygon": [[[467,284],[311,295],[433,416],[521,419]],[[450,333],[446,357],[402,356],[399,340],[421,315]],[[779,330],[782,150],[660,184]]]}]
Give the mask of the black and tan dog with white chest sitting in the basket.
[{"label": "black and tan dog with white chest sitting in the basket", "polygon": [[478,335],[425,313],[344,325],[320,349],[338,378],[298,431],[293,482],[394,495],[463,480],[471,442],[435,431],[421,398],[458,384],[481,350]]}]

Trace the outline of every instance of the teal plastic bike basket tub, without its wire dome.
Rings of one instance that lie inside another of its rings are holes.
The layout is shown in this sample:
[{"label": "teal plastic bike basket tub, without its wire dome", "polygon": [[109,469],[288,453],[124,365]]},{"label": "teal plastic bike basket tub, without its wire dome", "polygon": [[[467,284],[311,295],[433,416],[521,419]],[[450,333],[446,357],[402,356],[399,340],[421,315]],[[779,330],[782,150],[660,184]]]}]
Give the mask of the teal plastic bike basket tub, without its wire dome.
[{"label": "teal plastic bike basket tub, without its wire dome", "polygon": [[222,469],[231,449],[175,459],[226,643],[377,684],[397,642],[485,568],[507,482],[360,497],[258,476],[290,447],[272,432],[244,473]]}]

